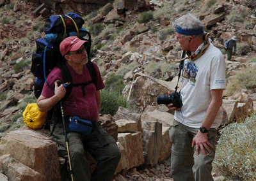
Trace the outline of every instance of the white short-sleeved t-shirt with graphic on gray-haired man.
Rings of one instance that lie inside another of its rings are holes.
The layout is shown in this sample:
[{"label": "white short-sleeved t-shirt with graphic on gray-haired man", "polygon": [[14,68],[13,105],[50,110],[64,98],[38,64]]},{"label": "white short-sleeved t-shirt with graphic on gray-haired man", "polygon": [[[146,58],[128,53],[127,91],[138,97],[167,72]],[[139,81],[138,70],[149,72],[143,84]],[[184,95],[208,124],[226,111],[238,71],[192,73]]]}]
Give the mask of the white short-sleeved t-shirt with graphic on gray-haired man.
[{"label": "white short-sleeved t-shirt with graphic on gray-haired man", "polygon": [[[211,102],[210,90],[226,87],[225,71],[223,54],[212,43],[196,61],[184,61],[180,91],[183,106],[180,111],[175,111],[174,119],[186,126],[199,128]],[[222,115],[220,109],[211,128],[220,126]]]}]

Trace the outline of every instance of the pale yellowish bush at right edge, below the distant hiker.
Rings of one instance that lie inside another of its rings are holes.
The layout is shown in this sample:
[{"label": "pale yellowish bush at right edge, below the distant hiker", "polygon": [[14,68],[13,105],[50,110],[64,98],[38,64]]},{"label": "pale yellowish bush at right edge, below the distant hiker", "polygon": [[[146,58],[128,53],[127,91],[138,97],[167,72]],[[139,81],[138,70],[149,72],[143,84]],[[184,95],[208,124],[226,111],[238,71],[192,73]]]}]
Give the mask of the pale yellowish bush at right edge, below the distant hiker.
[{"label": "pale yellowish bush at right edge, below the distant hiker", "polygon": [[256,66],[237,71],[237,74],[228,80],[226,89],[227,95],[232,96],[234,93],[239,92],[241,89],[250,90],[256,88],[255,72]]}]

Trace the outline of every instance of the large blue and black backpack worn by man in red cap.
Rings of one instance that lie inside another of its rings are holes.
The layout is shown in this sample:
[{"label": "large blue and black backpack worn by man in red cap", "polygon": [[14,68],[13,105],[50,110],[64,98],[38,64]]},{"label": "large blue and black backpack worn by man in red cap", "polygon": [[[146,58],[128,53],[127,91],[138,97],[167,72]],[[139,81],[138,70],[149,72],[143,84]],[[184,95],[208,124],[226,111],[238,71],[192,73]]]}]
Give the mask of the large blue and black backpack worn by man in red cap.
[{"label": "large blue and black backpack worn by man in red cap", "polygon": [[[63,80],[70,83],[67,88],[67,98],[72,90],[72,87],[85,86],[89,83],[97,85],[97,73],[90,61],[90,49],[92,45],[91,35],[87,29],[83,28],[84,20],[76,13],[67,13],[67,15],[52,15],[47,18],[44,25],[45,36],[42,39],[36,40],[36,52],[32,56],[31,73],[36,77],[34,81],[34,94],[36,98],[41,95],[44,87],[44,82],[54,90],[47,82],[47,75],[51,70],[58,66],[61,69]],[[74,85],[72,77],[65,64],[64,57],[60,54],[60,43],[68,36],[77,36],[81,40],[87,40],[88,63],[86,66],[90,71],[92,81]]]}]

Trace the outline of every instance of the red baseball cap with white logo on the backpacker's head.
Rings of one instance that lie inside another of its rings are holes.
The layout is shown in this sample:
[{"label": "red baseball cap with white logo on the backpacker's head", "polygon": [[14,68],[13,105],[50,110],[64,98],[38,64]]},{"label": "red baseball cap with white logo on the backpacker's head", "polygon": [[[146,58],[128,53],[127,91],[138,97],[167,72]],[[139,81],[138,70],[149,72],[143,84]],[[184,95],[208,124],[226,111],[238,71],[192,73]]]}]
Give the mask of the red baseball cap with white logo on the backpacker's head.
[{"label": "red baseball cap with white logo on the backpacker's head", "polygon": [[60,53],[61,55],[66,55],[69,51],[76,51],[78,50],[86,40],[80,40],[77,36],[69,36],[65,38],[60,43]]}]

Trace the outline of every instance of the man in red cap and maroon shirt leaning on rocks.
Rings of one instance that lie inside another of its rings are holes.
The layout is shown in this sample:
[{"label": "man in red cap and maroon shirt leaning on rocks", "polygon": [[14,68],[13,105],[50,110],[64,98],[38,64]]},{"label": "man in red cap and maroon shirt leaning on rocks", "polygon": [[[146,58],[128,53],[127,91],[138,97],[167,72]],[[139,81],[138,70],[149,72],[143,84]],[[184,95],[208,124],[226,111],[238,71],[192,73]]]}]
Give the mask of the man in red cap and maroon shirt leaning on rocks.
[{"label": "man in red cap and maroon shirt leaning on rocks", "polygon": [[[60,52],[67,60],[65,63],[68,66],[73,83],[78,84],[92,80],[90,71],[86,66],[88,62],[86,43],[88,42],[80,40],[76,36],[70,36],[61,41],[60,44]],[[83,136],[75,132],[67,133],[75,181],[111,180],[121,157],[115,139],[100,126],[100,90],[104,88],[104,83],[99,68],[94,63],[93,66],[97,72],[97,86],[90,83],[73,87],[68,98],[63,101],[63,112],[66,119],[70,116],[77,116],[80,119],[91,120],[93,124],[92,133],[89,136]],[[63,84],[58,85],[57,81],[63,82],[63,76],[60,68],[56,67],[47,76],[47,82],[51,87],[54,87],[54,91],[45,83],[42,94],[38,98],[37,105],[41,112],[51,110],[64,98],[66,89]],[[57,119],[57,117],[55,118]],[[65,134],[61,121],[57,122],[53,136],[58,143],[58,153],[60,156],[67,158]],[[98,161],[97,168],[92,175],[90,174],[90,164],[84,156],[85,151],[89,152]]]}]

